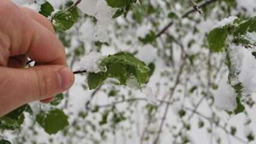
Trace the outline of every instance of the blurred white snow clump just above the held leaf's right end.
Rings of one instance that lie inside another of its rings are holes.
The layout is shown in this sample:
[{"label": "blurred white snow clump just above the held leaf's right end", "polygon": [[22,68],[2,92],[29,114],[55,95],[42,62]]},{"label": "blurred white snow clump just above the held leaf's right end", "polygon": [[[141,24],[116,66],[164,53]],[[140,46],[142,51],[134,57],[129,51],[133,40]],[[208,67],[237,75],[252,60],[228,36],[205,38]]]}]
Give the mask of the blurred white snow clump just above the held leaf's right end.
[{"label": "blurred white snow clump just above the held leaf's right end", "polygon": [[150,64],[157,57],[157,50],[151,44],[147,44],[139,48],[136,58],[144,61],[146,64]]}]

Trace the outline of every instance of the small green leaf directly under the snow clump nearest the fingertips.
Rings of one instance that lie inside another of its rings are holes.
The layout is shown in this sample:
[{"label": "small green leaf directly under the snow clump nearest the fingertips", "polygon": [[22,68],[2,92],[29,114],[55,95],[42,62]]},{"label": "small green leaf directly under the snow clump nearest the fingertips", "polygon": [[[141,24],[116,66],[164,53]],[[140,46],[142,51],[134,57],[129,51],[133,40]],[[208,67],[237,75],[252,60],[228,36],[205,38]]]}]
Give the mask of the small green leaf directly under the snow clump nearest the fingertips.
[{"label": "small green leaf directly under the snow clump nearest the fingertips", "polygon": [[101,85],[104,80],[108,77],[108,73],[89,73],[88,74],[88,86],[90,89],[95,89],[97,86]]}]

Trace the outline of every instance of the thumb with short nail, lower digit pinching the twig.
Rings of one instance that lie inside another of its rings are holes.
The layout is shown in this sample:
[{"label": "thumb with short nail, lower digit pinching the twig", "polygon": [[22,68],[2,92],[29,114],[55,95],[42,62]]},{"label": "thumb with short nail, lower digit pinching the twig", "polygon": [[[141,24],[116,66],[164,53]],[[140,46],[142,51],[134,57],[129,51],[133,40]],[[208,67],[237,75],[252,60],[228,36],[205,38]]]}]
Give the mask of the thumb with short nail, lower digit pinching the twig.
[{"label": "thumb with short nail, lower digit pinching the twig", "polygon": [[31,101],[67,91],[74,82],[72,71],[63,65],[0,67],[0,71],[0,116]]}]

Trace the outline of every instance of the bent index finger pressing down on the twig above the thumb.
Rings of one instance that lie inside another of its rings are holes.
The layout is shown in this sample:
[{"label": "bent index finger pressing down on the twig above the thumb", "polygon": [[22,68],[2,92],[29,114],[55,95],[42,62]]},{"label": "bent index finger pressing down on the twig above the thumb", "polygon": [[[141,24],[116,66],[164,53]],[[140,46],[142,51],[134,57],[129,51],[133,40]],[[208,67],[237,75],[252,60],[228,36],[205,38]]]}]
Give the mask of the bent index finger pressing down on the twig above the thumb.
[{"label": "bent index finger pressing down on the twig above the thumb", "polygon": [[56,35],[11,1],[1,2],[0,27],[0,34],[8,36],[5,40],[8,44],[2,48],[9,50],[5,55],[28,54],[39,63],[66,64],[64,46]]}]

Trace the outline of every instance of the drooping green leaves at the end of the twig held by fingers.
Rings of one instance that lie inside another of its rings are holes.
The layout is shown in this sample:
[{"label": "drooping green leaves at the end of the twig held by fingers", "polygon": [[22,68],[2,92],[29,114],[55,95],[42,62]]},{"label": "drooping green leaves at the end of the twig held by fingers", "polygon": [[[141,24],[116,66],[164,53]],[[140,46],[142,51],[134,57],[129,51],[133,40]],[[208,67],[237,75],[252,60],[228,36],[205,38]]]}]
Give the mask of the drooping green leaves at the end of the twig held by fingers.
[{"label": "drooping green leaves at the end of the twig held by fingers", "polygon": [[134,76],[139,86],[148,82],[150,69],[144,62],[135,58],[130,53],[117,53],[102,59],[101,67],[106,67],[106,72],[89,73],[88,86],[90,89],[97,88],[107,77],[115,78],[120,85],[126,85],[127,79]]}]

